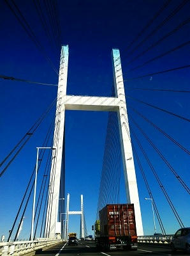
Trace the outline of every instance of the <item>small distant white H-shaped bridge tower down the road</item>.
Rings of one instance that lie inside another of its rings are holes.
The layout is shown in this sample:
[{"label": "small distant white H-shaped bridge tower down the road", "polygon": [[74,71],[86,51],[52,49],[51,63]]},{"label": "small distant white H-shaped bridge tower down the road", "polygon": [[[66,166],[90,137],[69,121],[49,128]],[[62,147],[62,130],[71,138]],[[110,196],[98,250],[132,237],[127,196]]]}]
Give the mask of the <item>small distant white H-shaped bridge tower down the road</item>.
[{"label": "small distant white H-shaped bridge tower down the road", "polygon": [[[83,204],[83,195],[80,195],[80,211],[69,211],[69,199],[70,195],[68,194],[67,196],[67,207],[66,207],[66,221],[65,221],[65,225],[64,225],[64,239],[68,239],[68,228],[69,228],[69,215],[70,214],[80,214],[81,219],[80,219],[80,223],[81,223],[81,237],[85,236],[85,232],[84,232],[84,204]],[[75,231],[75,230],[73,230]]]}]

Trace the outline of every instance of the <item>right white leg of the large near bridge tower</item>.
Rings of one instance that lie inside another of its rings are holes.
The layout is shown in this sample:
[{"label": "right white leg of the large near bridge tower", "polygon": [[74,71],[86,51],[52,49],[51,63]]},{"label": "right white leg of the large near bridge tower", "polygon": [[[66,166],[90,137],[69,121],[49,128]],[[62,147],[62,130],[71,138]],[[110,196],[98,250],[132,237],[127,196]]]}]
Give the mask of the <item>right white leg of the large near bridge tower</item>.
[{"label": "right white leg of the large near bridge tower", "polygon": [[131,136],[129,131],[128,111],[122,77],[122,67],[119,49],[112,50],[113,76],[115,85],[115,97],[119,99],[119,132],[121,138],[122,162],[124,168],[124,178],[126,184],[126,195],[128,204],[134,204],[136,232],[138,236],[143,236],[142,216],[136,183],[135,165],[131,146]]}]

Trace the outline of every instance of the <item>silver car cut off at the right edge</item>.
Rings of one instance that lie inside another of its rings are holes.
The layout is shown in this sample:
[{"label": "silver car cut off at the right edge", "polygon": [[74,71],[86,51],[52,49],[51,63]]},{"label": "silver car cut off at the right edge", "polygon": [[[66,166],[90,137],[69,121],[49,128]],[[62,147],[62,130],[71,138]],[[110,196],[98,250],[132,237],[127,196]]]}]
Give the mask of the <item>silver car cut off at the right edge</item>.
[{"label": "silver car cut off at the right edge", "polygon": [[190,253],[190,227],[177,230],[171,242],[172,251],[186,250]]}]

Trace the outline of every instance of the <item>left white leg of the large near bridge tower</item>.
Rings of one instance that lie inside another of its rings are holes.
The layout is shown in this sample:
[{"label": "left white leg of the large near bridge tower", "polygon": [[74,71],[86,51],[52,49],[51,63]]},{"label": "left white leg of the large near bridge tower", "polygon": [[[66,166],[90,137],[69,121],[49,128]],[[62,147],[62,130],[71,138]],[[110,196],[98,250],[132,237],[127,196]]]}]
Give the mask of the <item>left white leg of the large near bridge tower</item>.
[{"label": "left white leg of the large near bridge tower", "polygon": [[[59,209],[60,200],[60,182],[61,172],[64,172],[62,163],[62,152],[64,146],[64,95],[66,95],[67,77],[68,77],[68,45],[61,47],[61,59],[59,68],[59,83],[57,90],[57,108],[55,118],[55,131],[54,131],[54,152],[52,155],[52,166],[50,171],[50,184],[48,193],[48,206],[47,206],[47,218],[45,223],[45,237],[54,239],[56,233],[60,230],[56,230],[57,214]],[[64,175],[64,173],[63,173]],[[59,228],[60,229],[60,228]]]}]

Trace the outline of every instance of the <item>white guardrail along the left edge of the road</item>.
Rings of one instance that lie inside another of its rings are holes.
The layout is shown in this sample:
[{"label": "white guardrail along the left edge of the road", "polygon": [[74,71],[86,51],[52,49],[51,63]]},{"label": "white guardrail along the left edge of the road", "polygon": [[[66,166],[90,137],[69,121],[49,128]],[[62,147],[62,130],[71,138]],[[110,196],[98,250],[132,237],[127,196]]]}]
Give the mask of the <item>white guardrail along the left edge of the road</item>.
[{"label": "white guardrail along the left edge of the road", "polygon": [[43,249],[48,246],[60,243],[62,239],[44,239],[39,238],[35,241],[15,241],[15,242],[3,242],[0,243],[0,255],[1,256],[19,256],[26,253],[32,253],[36,250]]}]

